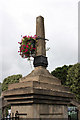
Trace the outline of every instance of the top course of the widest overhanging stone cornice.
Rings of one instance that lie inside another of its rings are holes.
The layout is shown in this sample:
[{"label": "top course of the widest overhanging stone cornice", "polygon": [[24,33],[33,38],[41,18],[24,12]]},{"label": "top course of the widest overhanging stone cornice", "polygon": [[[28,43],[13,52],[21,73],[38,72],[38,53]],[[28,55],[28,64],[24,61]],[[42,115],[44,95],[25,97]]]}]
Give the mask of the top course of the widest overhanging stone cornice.
[{"label": "top course of the widest overhanging stone cornice", "polygon": [[[20,92],[19,92],[20,91]],[[58,91],[57,89],[42,89],[42,88],[34,88],[34,87],[26,87],[26,88],[18,88],[18,89],[11,89],[3,92],[4,96],[8,95],[19,95],[19,94],[45,94],[45,95],[55,95],[55,96],[66,96],[72,97],[73,94],[67,91]]]}]

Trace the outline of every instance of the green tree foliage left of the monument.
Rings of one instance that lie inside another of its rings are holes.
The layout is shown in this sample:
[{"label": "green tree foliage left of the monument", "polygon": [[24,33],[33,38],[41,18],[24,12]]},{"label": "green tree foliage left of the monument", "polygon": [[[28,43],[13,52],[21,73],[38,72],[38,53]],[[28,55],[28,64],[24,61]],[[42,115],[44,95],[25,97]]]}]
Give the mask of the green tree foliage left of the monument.
[{"label": "green tree foliage left of the monument", "polygon": [[7,78],[5,78],[2,83],[2,91],[8,89],[8,84],[18,83],[21,77],[22,75],[18,74],[18,75],[8,76]]}]

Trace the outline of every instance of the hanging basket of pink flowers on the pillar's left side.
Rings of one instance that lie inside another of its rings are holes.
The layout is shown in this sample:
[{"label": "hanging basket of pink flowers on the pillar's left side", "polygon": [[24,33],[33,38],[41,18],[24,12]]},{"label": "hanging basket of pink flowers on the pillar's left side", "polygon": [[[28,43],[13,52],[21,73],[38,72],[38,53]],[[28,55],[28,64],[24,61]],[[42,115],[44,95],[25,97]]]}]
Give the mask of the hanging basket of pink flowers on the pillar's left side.
[{"label": "hanging basket of pink flowers on the pillar's left side", "polygon": [[37,42],[37,36],[23,36],[21,42],[18,42],[20,44],[19,47],[19,53],[22,58],[28,58],[30,60],[30,57],[34,57],[36,54],[36,42]]}]

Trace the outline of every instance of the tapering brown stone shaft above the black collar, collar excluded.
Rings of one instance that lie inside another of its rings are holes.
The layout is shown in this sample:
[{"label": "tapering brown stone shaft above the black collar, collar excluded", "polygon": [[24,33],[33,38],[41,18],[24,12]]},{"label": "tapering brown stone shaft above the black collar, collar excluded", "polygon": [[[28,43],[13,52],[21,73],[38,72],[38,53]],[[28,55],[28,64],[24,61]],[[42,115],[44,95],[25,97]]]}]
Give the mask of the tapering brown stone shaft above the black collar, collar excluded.
[{"label": "tapering brown stone shaft above the black collar, collar excluded", "polygon": [[39,16],[36,18],[36,35],[43,38],[39,39],[37,42],[37,53],[36,56],[43,55],[46,56],[45,48],[45,30],[44,30],[44,18]]}]

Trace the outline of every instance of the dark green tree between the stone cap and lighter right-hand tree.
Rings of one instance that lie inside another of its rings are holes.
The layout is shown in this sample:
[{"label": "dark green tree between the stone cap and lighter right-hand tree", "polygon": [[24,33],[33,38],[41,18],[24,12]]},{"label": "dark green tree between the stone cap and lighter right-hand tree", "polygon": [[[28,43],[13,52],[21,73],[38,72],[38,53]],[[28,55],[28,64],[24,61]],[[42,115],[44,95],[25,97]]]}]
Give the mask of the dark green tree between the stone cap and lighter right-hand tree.
[{"label": "dark green tree between the stone cap and lighter right-hand tree", "polygon": [[61,80],[62,85],[66,85],[66,78],[68,74],[68,69],[71,68],[72,65],[64,65],[62,67],[58,67],[51,72],[51,74]]}]

